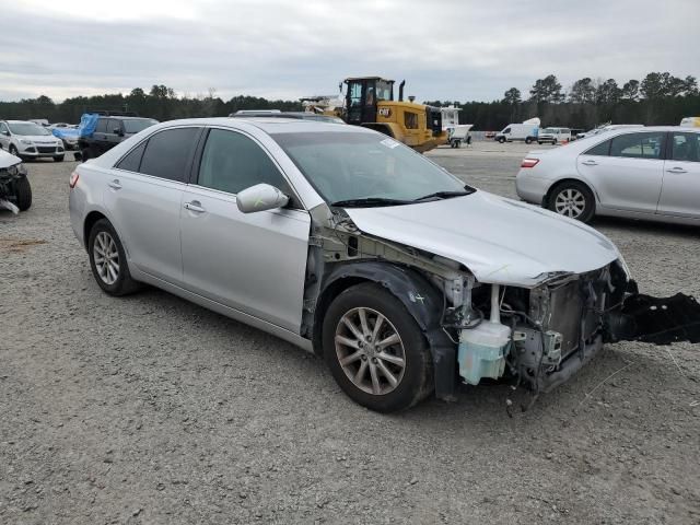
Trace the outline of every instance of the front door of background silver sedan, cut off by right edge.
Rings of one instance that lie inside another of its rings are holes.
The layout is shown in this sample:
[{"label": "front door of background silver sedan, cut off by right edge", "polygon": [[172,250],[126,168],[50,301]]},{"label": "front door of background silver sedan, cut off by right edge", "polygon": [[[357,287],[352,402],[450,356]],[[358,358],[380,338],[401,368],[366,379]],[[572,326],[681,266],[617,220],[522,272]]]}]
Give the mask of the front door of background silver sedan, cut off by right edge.
[{"label": "front door of background silver sedan, cut off by right edge", "polygon": [[700,133],[669,133],[658,213],[700,219]]}]

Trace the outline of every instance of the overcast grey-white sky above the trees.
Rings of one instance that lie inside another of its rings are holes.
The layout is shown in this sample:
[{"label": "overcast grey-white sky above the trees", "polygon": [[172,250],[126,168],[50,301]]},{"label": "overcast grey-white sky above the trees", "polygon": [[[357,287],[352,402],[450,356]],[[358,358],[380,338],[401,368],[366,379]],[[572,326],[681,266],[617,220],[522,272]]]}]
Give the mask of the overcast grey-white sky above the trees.
[{"label": "overcast grey-white sky above the trees", "polygon": [[700,77],[698,20],[700,0],[4,0],[0,100],[296,98],[380,74],[419,101],[491,101],[549,73]]}]

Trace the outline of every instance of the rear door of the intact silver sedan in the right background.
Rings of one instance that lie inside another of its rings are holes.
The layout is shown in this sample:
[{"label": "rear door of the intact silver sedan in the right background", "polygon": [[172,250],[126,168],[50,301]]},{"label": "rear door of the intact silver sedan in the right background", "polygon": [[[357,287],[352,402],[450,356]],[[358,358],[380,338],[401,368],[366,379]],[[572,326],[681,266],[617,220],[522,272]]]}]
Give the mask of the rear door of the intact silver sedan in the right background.
[{"label": "rear door of the intact silver sedan in the right background", "polygon": [[664,173],[664,131],[622,133],[583,152],[576,168],[604,208],[655,213]]}]

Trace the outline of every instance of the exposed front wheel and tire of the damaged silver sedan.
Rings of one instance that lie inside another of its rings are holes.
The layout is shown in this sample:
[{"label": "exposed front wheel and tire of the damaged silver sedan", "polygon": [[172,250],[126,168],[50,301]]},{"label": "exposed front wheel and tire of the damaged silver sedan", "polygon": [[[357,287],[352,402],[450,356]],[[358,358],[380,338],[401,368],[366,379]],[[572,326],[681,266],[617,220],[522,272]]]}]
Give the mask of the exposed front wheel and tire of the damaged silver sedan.
[{"label": "exposed front wheel and tire of the damaged silver sedan", "polygon": [[338,295],[324,318],[323,346],[340,388],[371,410],[404,410],[433,390],[427,341],[383,287],[364,283]]}]

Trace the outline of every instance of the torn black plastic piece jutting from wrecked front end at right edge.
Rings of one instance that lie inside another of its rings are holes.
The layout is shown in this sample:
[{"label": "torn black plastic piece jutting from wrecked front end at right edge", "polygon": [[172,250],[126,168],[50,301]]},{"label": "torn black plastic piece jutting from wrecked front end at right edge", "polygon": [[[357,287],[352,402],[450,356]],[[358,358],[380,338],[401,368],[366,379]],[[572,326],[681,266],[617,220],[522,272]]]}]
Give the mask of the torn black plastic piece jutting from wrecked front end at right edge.
[{"label": "torn black plastic piece jutting from wrecked front end at right edge", "polygon": [[608,332],[612,342],[700,342],[700,303],[684,293],[670,298],[634,294],[610,314]]}]

